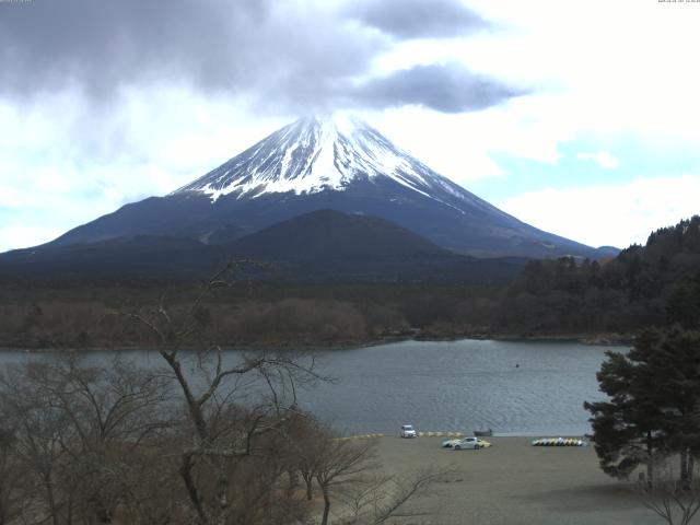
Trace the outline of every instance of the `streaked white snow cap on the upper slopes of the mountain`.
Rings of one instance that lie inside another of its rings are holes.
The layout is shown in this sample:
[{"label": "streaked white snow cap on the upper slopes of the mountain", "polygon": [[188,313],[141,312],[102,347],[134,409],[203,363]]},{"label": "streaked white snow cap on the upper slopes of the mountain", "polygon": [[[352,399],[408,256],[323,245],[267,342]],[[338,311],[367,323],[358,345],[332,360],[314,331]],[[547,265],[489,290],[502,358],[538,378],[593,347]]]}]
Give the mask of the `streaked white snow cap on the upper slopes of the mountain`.
[{"label": "streaked white snow cap on the upper slopes of the mountain", "polygon": [[[336,113],[302,118],[173,195],[198,191],[213,201],[231,195],[313,195],[342,191],[353,182],[388,178],[464,213],[460,201],[499,212],[401,151],[357,117]],[[456,199],[456,201],[455,201]]]}]

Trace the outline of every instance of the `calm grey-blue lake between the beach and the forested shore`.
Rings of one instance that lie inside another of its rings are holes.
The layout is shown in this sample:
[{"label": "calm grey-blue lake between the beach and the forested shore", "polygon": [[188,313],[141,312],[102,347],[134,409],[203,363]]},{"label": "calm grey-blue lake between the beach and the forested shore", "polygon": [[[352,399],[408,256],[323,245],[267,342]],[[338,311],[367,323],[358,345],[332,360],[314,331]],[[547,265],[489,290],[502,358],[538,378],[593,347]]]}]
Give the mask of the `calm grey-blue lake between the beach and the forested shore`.
[{"label": "calm grey-blue lake between the beach and the forested shore", "polygon": [[[299,393],[300,405],[345,434],[493,429],[498,435],[582,435],[583,401],[604,399],[595,373],[606,350],[576,342],[402,341],[314,352],[319,371],[336,377]],[[160,357],[121,352],[148,365]],[[95,352],[91,360],[114,352]],[[0,363],[48,354],[0,353]],[[236,352],[231,352],[234,359]]]}]

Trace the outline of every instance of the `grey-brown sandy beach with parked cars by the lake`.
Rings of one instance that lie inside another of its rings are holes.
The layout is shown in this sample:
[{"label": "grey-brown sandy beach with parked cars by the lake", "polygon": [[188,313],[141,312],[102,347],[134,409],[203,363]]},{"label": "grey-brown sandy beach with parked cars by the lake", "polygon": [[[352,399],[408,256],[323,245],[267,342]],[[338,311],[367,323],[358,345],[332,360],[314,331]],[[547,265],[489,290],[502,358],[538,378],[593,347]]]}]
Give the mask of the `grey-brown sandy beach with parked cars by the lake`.
[{"label": "grey-brown sandy beach with parked cars by the lake", "polygon": [[489,438],[493,446],[452,451],[444,438],[380,439],[387,472],[430,467],[451,469],[444,481],[409,502],[407,511],[428,515],[397,522],[411,525],[465,524],[660,524],[629,483],[598,467],[592,446],[538,447],[532,438]]}]

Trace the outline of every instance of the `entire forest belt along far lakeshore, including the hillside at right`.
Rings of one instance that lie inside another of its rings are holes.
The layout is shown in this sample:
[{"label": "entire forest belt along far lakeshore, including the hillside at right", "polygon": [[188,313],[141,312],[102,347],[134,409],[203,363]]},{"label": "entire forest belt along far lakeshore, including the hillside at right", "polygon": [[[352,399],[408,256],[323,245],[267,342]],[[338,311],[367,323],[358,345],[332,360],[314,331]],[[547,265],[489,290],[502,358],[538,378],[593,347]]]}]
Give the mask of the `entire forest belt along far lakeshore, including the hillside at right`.
[{"label": "entire forest belt along far lakeshore, including the hillside at right", "polygon": [[[152,342],[119,312],[185,312],[199,283],[78,281],[0,290],[0,346]],[[700,320],[700,217],[653,232],[607,261],[534,260],[505,285],[291,284],[245,278],[200,305],[223,345],[342,345],[394,337],[586,337]]]}]

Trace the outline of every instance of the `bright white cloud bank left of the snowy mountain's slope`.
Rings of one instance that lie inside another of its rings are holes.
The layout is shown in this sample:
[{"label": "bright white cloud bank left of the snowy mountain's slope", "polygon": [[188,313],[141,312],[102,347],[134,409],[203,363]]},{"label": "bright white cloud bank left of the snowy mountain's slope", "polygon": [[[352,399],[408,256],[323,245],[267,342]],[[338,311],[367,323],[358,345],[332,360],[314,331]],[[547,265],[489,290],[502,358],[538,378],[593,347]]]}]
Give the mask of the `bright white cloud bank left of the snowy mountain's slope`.
[{"label": "bright white cloud bank left of the snowy mountain's slope", "polygon": [[70,91],[0,101],[0,253],[166,195],[287,122],[253,120],[236,102],[174,88],[122,93],[100,115]]}]

